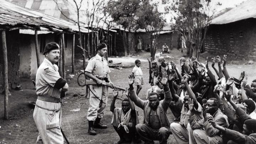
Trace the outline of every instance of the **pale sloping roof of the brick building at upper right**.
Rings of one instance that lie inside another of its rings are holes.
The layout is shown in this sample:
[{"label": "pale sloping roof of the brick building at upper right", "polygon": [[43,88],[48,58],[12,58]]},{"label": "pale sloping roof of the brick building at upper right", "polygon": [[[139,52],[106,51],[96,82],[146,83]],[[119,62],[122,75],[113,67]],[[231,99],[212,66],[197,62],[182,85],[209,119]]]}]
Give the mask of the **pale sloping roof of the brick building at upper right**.
[{"label": "pale sloping roof of the brick building at upper right", "polygon": [[211,24],[225,24],[247,18],[256,18],[256,0],[248,0],[212,20]]}]

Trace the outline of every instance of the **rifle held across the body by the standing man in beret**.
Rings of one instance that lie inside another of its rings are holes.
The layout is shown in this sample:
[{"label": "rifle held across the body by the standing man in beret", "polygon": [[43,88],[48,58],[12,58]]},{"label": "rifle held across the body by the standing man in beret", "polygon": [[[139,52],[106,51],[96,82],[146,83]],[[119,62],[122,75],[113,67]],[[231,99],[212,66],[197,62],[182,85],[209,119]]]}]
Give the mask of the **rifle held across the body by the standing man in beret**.
[{"label": "rifle held across the body by the standing man in beret", "polygon": [[[80,73],[78,75],[78,78],[77,78],[77,82],[78,82],[78,85],[79,86],[87,86],[87,85],[97,85],[97,82],[95,81],[92,81],[92,80],[88,80],[86,75],[84,73]],[[122,91],[125,91],[126,89],[123,88],[123,87],[120,87],[120,86],[116,86],[116,85],[111,85],[105,81],[102,81],[102,85],[105,85],[105,86],[108,86],[110,88],[116,88],[118,90],[122,90]]]}]

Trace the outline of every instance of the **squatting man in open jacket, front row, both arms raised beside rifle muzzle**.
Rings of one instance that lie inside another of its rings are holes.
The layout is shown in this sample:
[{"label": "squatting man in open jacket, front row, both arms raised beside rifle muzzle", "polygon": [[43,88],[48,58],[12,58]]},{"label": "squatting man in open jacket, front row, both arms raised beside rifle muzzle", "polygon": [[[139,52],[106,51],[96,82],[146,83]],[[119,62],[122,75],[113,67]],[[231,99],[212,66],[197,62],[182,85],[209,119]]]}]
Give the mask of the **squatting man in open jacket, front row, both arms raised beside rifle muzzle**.
[{"label": "squatting man in open jacket, front row, both arms raised beside rifle muzzle", "polygon": [[141,100],[134,92],[134,76],[129,76],[129,95],[136,106],[144,111],[144,124],[136,125],[136,132],[146,144],[153,144],[153,140],[159,140],[160,144],[167,144],[171,134],[170,122],[167,117],[167,109],[171,103],[172,96],[167,86],[167,74],[164,73],[159,81],[164,85],[164,100],[159,101],[159,95],[155,92],[149,94],[149,100]]}]

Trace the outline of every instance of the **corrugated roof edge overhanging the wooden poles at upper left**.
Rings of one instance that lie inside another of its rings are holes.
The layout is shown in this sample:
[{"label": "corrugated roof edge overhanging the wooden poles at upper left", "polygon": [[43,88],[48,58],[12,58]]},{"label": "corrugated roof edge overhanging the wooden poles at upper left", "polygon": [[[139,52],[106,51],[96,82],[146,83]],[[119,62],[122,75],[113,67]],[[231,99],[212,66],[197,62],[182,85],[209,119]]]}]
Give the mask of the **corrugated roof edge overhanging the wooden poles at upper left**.
[{"label": "corrugated roof edge overhanging the wooden poles at upper left", "polygon": [[[72,31],[79,31],[78,26],[71,22],[27,9],[5,0],[0,2],[0,23],[12,26],[20,24],[27,26],[51,26],[57,29],[69,28]],[[88,30],[81,28],[81,32],[87,33]]]}]

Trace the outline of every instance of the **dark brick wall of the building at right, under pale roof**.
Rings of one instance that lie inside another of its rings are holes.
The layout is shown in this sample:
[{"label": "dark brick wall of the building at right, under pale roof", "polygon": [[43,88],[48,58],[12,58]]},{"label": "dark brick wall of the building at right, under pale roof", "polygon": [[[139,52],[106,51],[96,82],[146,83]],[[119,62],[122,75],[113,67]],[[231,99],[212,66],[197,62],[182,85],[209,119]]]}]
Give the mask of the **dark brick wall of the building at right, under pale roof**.
[{"label": "dark brick wall of the building at right, under pale roof", "polygon": [[215,55],[227,54],[230,59],[256,60],[256,19],[210,25],[204,48]]}]

